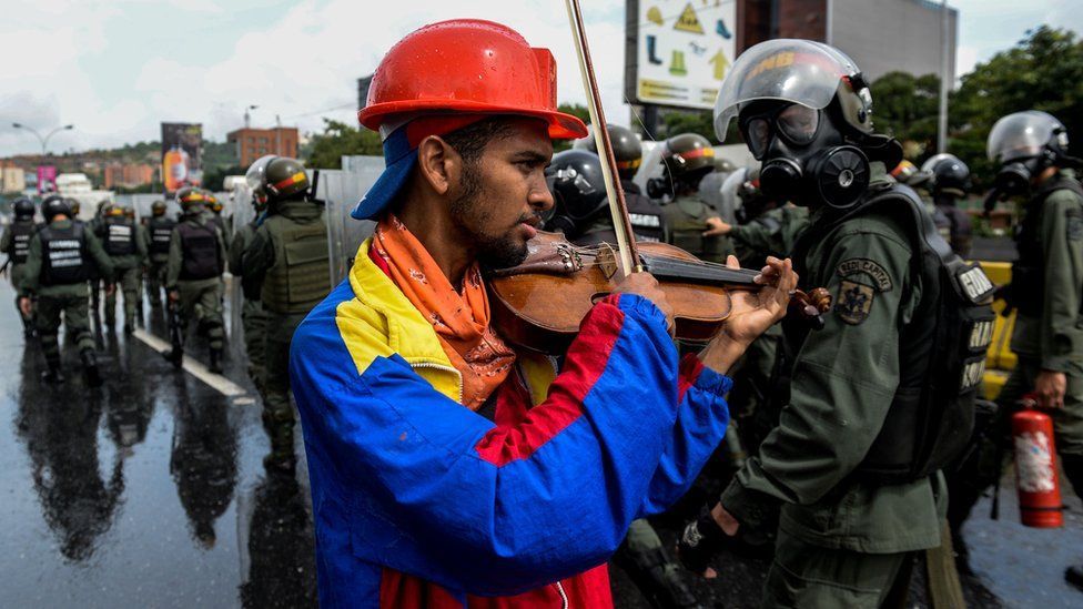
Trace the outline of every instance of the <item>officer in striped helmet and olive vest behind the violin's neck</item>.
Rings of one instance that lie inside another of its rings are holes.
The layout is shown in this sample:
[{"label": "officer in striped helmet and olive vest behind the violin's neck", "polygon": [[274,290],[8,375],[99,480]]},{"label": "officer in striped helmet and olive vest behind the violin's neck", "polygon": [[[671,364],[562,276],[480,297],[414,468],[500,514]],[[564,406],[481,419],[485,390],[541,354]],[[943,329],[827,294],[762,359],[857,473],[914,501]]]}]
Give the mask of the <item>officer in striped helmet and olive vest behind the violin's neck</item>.
[{"label": "officer in striped helmet and olive vest behind the violin's neck", "polygon": [[651,197],[671,196],[661,206],[669,226],[670,243],[701,260],[723,263],[732,251],[729,240],[717,232],[718,211],[699,196],[699,183],[715,171],[715,149],[696,133],[675,135],[664,144],[664,175],[648,183]]}]

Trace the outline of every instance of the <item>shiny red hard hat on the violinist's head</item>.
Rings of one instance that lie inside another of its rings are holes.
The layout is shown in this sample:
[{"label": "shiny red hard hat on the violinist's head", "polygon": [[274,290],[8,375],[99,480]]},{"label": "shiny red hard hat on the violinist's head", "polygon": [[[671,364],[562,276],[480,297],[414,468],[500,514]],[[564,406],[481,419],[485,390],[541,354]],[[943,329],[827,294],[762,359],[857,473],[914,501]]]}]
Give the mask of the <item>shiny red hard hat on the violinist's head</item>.
[{"label": "shiny red hard hat on the violinist's head", "polygon": [[546,121],[550,138],[586,136],[583,121],[557,111],[556,84],[553,53],[532,48],[507,26],[442,21],[387,51],[357,119],[378,131],[417,112],[520,114]]}]

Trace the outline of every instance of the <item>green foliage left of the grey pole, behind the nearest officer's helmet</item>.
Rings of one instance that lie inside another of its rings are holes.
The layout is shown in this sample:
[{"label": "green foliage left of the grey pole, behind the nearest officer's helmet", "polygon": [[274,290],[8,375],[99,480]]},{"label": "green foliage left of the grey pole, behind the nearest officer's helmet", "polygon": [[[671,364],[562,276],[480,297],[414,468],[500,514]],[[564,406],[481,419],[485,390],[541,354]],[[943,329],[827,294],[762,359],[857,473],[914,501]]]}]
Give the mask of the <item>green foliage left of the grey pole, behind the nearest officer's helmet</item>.
[{"label": "green foliage left of the grey pole, behind the nearest officer's helmet", "polygon": [[888,72],[872,83],[877,131],[903,142],[908,151],[935,150],[939,97],[935,74]]}]

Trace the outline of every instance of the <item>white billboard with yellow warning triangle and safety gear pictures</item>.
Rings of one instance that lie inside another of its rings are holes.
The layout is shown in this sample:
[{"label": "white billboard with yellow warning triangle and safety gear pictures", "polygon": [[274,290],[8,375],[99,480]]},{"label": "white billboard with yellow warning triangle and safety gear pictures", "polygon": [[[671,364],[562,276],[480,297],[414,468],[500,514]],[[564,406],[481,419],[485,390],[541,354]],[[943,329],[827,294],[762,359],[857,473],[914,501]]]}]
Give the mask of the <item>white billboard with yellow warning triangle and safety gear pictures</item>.
[{"label": "white billboard with yellow warning triangle and safety gear pictures", "polygon": [[737,53],[736,0],[628,0],[625,94],[710,110]]}]

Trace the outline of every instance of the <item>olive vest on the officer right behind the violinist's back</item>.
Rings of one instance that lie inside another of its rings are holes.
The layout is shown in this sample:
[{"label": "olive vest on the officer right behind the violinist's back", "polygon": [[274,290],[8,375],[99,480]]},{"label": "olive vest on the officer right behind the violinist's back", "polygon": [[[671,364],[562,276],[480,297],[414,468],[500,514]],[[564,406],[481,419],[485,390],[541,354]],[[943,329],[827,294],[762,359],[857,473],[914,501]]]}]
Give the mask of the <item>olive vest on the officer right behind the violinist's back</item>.
[{"label": "olive vest on the officer right behind the violinist's back", "polygon": [[307,224],[280,219],[266,224],[274,266],[263,280],[261,300],[273,313],[307,313],[331,292],[327,224],[323,217]]}]

